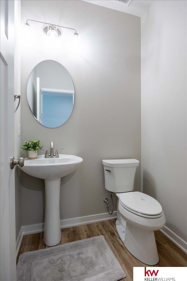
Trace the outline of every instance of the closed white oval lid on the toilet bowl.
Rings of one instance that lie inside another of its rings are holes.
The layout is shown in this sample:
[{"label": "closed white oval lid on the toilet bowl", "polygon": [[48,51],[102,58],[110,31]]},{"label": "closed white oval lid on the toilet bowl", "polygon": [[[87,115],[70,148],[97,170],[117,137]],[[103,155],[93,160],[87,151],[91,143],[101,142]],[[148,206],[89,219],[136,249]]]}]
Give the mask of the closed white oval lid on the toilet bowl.
[{"label": "closed white oval lid on the toilet bowl", "polygon": [[124,208],[133,213],[136,212],[148,216],[162,215],[160,203],[145,193],[138,191],[120,193],[119,200]]}]

